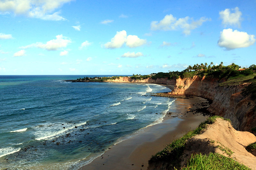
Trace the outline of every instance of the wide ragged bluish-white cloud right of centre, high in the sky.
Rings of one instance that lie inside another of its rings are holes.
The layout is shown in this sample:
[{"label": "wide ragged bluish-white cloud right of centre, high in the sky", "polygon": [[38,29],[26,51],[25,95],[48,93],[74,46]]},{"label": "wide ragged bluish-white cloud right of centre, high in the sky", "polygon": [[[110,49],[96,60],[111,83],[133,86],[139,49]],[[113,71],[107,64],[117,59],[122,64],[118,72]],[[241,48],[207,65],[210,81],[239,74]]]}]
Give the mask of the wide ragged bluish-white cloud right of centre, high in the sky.
[{"label": "wide ragged bluish-white cloud right of centre, high in the sky", "polygon": [[179,18],[173,17],[172,14],[166,15],[161,21],[152,21],[151,30],[164,30],[171,31],[182,29],[185,35],[189,35],[190,31],[201,26],[205,21],[210,21],[211,18],[201,17],[199,20],[194,21],[193,18],[185,17]]}]

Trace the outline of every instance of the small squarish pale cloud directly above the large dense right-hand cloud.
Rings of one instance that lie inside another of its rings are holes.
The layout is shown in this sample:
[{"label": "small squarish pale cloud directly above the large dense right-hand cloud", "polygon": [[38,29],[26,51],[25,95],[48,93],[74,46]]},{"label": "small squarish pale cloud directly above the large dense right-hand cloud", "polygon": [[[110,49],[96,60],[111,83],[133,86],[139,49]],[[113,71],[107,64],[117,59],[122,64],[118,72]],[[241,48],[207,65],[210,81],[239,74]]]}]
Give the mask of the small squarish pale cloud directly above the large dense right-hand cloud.
[{"label": "small squarish pale cloud directly above the large dense right-hand cloud", "polygon": [[231,9],[234,13],[230,13],[230,9],[225,9],[224,11],[220,11],[220,18],[222,19],[222,24],[226,27],[230,26],[238,26],[240,27],[242,21],[242,12],[239,11],[239,8],[236,7]]}]

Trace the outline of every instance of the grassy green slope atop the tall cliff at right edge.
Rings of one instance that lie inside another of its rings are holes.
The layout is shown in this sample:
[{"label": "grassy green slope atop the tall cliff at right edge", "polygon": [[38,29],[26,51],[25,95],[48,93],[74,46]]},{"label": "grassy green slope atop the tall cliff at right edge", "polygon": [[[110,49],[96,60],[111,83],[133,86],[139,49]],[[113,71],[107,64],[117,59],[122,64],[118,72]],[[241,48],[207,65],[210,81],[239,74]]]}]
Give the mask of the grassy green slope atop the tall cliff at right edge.
[{"label": "grassy green slope atop the tall cliff at right edge", "polygon": [[227,81],[220,83],[219,86],[225,86],[225,85],[239,85],[243,83],[249,83],[249,82],[254,82],[255,79],[254,77],[256,76],[256,73],[253,73],[249,76],[236,76],[236,77],[231,77],[228,78]]}]

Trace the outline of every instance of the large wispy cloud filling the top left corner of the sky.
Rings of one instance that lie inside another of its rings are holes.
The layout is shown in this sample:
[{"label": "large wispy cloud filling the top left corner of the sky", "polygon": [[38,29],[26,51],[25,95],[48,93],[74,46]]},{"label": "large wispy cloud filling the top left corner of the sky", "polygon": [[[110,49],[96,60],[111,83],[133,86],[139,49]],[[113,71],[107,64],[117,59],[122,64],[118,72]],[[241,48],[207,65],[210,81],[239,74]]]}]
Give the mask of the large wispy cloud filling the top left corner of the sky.
[{"label": "large wispy cloud filling the top left corner of the sky", "polygon": [[66,20],[60,16],[60,12],[54,12],[63,4],[72,0],[8,0],[0,1],[1,12],[12,12],[16,14],[23,14],[32,18],[40,18],[43,20]]}]

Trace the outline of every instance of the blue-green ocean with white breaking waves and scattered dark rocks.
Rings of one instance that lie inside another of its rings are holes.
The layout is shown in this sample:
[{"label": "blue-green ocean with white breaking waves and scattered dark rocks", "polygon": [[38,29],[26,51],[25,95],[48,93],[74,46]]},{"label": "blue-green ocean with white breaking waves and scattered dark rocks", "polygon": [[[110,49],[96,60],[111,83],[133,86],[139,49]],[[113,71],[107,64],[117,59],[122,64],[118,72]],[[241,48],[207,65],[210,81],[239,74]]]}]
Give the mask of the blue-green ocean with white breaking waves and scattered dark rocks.
[{"label": "blue-green ocean with white breaking waves and scattered dark rocks", "polygon": [[151,96],[170,91],[157,84],[63,81],[95,76],[0,76],[0,168],[78,169],[175,100]]}]

